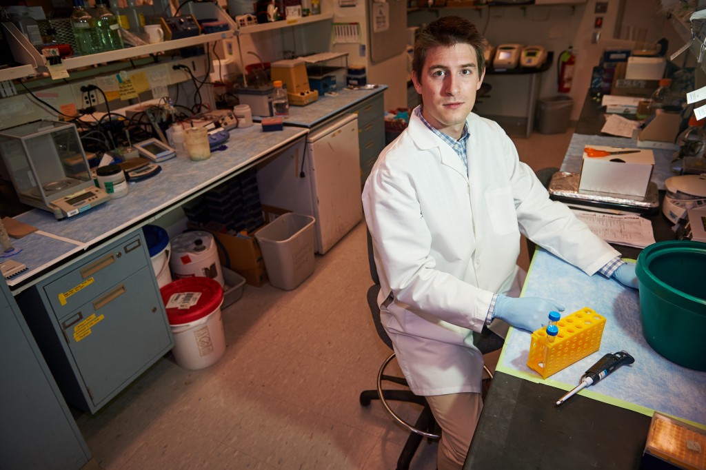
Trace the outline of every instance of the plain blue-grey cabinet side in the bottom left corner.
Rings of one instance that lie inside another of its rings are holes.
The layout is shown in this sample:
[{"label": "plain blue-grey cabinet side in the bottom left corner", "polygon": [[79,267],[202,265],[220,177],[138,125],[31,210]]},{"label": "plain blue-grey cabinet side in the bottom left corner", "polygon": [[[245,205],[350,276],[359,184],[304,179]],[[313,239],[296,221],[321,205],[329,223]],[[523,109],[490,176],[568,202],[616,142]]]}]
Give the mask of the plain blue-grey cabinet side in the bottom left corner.
[{"label": "plain blue-grey cabinet side in the bottom left corner", "polygon": [[0,279],[0,466],[78,469],[90,452],[7,284]]}]

